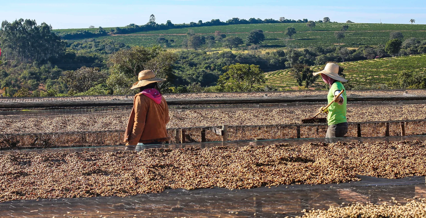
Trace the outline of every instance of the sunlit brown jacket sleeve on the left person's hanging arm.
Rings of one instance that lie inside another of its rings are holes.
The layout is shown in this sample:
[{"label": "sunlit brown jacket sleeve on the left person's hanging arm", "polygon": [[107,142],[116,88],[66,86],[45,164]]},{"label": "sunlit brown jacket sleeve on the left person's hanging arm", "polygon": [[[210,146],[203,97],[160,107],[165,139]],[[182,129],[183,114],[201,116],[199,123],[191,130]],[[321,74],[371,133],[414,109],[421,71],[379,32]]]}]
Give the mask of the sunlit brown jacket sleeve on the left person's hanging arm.
[{"label": "sunlit brown jacket sleeve on the left person's hanging arm", "polygon": [[147,118],[148,105],[147,102],[141,100],[141,96],[135,97],[135,119],[133,124],[133,131],[130,134],[129,145],[137,145],[141,139],[142,133],[145,128],[145,121]]}]

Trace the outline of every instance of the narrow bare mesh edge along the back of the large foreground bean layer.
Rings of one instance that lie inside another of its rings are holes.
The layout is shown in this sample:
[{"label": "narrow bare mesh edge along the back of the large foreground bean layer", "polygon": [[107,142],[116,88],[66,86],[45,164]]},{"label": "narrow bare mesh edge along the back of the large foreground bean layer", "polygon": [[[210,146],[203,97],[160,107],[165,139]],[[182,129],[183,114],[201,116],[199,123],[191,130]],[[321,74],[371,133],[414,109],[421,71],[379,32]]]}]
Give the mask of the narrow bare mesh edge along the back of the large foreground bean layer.
[{"label": "narrow bare mesh edge along the back of the large foreground bean layer", "polygon": [[[148,148],[186,148],[186,147],[199,147],[210,148],[215,146],[231,146],[242,147],[248,145],[272,145],[278,143],[288,143],[290,145],[302,145],[305,143],[333,143],[333,142],[398,142],[403,140],[426,140],[426,135],[420,136],[390,136],[390,137],[356,137],[356,138],[312,138],[312,139],[277,139],[277,140],[242,140],[242,141],[228,141],[228,142],[196,142],[185,144],[159,144],[159,145],[144,145],[143,149]],[[82,152],[82,151],[124,151],[125,145],[117,146],[98,146],[98,147],[82,147],[82,148],[46,148],[46,149],[26,149],[26,150],[4,150],[0,154],[14,154],[17,152],[35,152],[35,153],[51,153],[51,152]]]}]

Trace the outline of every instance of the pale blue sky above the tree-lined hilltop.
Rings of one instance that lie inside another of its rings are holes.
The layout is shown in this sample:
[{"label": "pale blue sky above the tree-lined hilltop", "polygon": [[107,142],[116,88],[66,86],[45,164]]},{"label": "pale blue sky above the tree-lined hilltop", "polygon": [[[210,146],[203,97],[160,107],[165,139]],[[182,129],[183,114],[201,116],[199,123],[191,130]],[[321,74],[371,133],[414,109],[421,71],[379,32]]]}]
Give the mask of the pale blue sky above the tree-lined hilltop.
[{"label": "pale blue sky above the tree-lined hilltop", "polygon": [[[37,2],[37,3],[34,3]],[[157,23],[190,23],[232,17],[285,17],[356,23],[426,24],[425,0],[19,0],[0,3],[0,20],[19,18],[46,22],[54,29],[145,24],[151,14]]]}]

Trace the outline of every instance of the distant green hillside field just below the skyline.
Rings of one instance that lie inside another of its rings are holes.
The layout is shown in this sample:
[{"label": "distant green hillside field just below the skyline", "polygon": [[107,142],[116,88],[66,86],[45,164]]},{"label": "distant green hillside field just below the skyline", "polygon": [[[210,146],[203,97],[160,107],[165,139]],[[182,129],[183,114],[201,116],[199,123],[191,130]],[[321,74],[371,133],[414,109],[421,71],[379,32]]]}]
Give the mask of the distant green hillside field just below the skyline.
[{"label": "distant green hillside field just below the skyline", "polygon": [[[247,32],[253,29],[262,29],[265,32],[266,40],[263,42],[265,48],[306,48],[309,46],[332,46],[338,41],[334,37],[334,32],[339,31],[343,25],[348,25],[349,29],[345,33],[345,38],[341,41],[344,47],[359,47],[360,45],[386,44],[389,40],[389,32],[402,31],[404,38],[418,38],[426,40],[426,25],[418,24],[379,24],[379,23],[317,23],[311,32],[306,23],[264,23],[264,24],[241,24],[227,26],[201,26],[184,29],[168,29],[158,31],[138,32],[128,35],[109,35],[108,38],[120,41],[130,46],[152,46],[156,44],[158,37],[175,40],[171,49],[181,47],[181,42],[187,36],[184,35],[188,29],[192,29],[196,34],[213,35],[215,31],[222,31],[228,36],[238,36],[242,39],[247,37]],[[298,32],[294,39],[282,32],[288,27],[294,26]],[[108,29],[108,28],[105,28]],[[92,29],[60,29],[57,32],[71,30],[92,30]],[[183,34],[183,35],[182,35]],[[216,43],[214,48],[222,48],[222,43]],[[202,47],[204,49],[207,46]],[[241,49],[241,48],[240,48]]]}]

